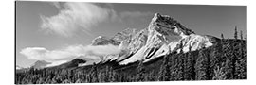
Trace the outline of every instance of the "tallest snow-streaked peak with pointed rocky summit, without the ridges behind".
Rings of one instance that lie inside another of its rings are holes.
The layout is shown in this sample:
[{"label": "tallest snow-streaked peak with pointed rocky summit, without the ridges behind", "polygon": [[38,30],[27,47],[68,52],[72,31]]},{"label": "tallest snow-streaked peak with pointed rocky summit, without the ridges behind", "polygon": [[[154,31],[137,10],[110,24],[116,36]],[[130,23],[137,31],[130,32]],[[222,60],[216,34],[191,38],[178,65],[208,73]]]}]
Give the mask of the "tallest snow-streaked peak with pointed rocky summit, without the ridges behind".
[{"label": "tallest snow-streaked peak with pointed rocky summit, without the ridges behind", "polygon": [[137,60],[144,59],[144,62],[150,61],[157,57],[164,56],[170,52],[177,51],[179,53],[179,45],[182,42],[184,52],[209,47],[212,45],[212,38],[209,36],[201,36],[195,34],[191,29],[182,26],[179,22],[168,15],[160,15],[155,13],[150,25],[146,29],[148,31],[146,43],[143,44],[135,55],[129,59],[120,61],[119,64],[128,64]]}]

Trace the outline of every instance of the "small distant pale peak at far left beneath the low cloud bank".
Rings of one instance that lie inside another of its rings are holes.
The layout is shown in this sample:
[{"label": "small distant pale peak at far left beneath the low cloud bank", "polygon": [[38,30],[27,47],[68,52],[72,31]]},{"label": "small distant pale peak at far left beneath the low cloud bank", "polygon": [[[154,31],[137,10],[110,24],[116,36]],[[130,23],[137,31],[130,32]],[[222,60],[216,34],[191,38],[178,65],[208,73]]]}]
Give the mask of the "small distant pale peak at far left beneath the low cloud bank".
[{"label": "small distant pale peak at far left beneath the low cloud bank", "polygon": [[34,64],[31,65],[31,68],[42,69],[42,68],[45,68],[48,64],[51,64],[51,63],[45,60],[37,60],[36,62],[34,62]]}]

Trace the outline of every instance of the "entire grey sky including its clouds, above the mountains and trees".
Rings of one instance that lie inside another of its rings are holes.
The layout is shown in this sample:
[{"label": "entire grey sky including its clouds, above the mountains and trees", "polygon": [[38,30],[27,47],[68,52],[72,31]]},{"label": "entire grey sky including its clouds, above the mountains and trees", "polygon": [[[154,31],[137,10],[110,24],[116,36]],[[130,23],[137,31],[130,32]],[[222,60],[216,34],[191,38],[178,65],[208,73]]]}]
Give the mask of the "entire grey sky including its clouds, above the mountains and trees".
[{"label": "entire grey sky including its clouds, above the mountains and trees", "polygon": [[89,44],[126,28],[146,28],[155,12],[170,15],[197,34],[233,38],[237,26],[246,35],[245,6],[16,1],[16,65],[117,54],[116,46]]}]

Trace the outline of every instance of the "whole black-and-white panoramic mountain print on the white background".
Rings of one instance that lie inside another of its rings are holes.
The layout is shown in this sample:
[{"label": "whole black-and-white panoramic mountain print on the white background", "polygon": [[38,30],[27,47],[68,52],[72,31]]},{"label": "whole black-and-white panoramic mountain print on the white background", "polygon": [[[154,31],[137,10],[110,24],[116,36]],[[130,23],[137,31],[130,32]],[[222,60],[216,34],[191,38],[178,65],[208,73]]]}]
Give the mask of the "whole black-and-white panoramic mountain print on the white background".
[{"label": "whole black-and-white panoramic mountain print on the white background", "polygon": [[247,79],[245,6],[17,1],[16,31],[16,84]]}]

